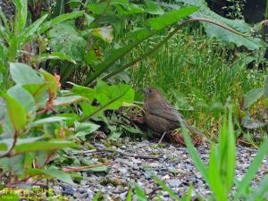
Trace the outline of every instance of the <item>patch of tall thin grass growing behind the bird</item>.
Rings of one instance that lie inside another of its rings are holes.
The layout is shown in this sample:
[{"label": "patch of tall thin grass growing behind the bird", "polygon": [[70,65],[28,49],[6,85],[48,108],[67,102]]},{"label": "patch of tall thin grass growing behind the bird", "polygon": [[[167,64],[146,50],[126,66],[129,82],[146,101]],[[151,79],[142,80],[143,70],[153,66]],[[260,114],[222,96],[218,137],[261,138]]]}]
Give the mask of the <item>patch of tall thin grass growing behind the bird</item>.
[{"label": "patch of tall thin grass growing behind the bird", "polygon": [[[146,52],[160,39],[158,36],[148,41],[134,54]],[[242,55],[230,53],[230,48],[198,30],[194,35],[180,31],[130,70],[132,85],[138,90],[160,88],[191,123],[212,132],[218,123],[214,111],[221,109],[228,98],[239,103],[247,91],[264,85],[267,71],[247,70]]]}]

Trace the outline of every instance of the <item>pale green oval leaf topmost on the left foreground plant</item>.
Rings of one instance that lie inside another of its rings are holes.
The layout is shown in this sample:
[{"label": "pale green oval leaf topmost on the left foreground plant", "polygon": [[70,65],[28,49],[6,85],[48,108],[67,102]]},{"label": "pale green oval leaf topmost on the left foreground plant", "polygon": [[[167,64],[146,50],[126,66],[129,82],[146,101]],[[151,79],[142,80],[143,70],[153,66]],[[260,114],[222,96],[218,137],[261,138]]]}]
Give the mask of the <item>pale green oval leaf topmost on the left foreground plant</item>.
[{"label": "pale green oval leaf topmost on the left foreground plant", "polygon": [[10,63],[12,79],[18,85],[40,84],[44,80],[29,65],[24,63]]}]

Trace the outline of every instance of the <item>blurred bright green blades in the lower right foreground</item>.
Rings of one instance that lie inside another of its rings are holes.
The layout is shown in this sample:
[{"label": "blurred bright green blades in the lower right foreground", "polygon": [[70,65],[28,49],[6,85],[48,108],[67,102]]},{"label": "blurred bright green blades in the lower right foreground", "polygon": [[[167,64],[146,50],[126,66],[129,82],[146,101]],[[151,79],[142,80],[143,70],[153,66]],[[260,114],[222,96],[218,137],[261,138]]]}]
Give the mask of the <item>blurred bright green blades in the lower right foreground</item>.
[{"label": "blurred bright green blades in the lower right foreground", "polygon": [[[258,168],[264,160],[264,156],[268,153],[268,140],[266,139],[264,141],[263,146],[260,148],[255,159],[247,169],[244,178],[239,182],[235,182],[235,133],[231,120],[231,110],[229,113],[228,123],[227,117],[225,116],[224,118],[218,145],[214,145],[214,143],[211,144],[210,159],[207,167],[204,163],[202,163],[198,156],[197,150],[192,145],[185,128],[183,129],[183,136],[186,139],[186,145],[194,163],[197,166],[197,169],[202,173],[204,180],[214,192],[212,197],[213,199],[229,200],[229,197],[233,197],[232,200],[240,200],[241,197],[243,197],[243,199],[247,199],[249,197],[256,199],[256,197],[260,196],[261,199],[264,199],[265,194],[260,195],[259,193],[255,193],[255,189],[251,189],[250,181],[254,178],[255,173],[258,171]],[[264,178],[262,182],[267,183],[266,179],[267,178]],[[231,195],[230,189],[234,184],[237,185],[237,188],[235,194]],[[259,190],[256,191],[262,192],[263,188],[266,188],[267,190],[267,185],[264,187],[259,186]],[[251,190],[248,191],[247,189]]]}]

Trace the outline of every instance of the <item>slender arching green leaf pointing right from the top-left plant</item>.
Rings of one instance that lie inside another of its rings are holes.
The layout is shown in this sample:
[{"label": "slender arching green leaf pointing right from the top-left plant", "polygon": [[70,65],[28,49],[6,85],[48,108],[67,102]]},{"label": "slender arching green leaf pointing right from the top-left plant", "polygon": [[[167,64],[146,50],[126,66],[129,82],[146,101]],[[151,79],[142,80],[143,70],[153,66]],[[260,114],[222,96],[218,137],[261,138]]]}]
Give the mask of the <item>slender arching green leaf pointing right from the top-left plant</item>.
[{"label": "slender arching green leaf pointing right from the top-left plant", "polygon": [[56,25],[57,23],[60,23],[62,21],[67,21],[67,20],[71,20],[77,17],[80,17],[84,14],[84,11],[79,11],[79,12],[72,12],[72,13],[65,13],[62,14],[58,17],[55,17],[53,20],[51,21],[47,21],[41,28],[40,30],[40,34],[44,33],[47,29],[52,28],[54,25]]}]

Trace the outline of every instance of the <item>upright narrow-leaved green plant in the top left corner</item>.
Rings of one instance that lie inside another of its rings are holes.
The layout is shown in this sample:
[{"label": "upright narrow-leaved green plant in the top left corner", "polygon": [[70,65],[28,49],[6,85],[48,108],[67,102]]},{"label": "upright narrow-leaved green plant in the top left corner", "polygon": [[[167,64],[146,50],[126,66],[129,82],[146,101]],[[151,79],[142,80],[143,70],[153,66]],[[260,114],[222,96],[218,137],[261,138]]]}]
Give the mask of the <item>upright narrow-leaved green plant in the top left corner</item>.
[{"label": "upright narrow-leaved green plant in the top left corner", "polygon": [[[31,59],[31,51],[29,44],[35,39],[39,38],[39,35],[44,33],[47,29],[50,29],[55,24],[76,18],[83,14],[83,12],[75,12],[63,14],[51,21],[46,21],[47,14],[43,15],[37,21],[31,23],[28,27],[28,4],[27,1],[14,1],[16,6],[16,14],[14,21],[8,21],[4,16],[4,13],[0,10],[0,87],[10,87],[10,81],[8,80],[8,62],[17,62],[19,58],[26,57],[26,63]],[[3,24],[3,25],[2,25]],[[41,49],[40,49],[41,50]],[[24,53],[26,52],[26,55]],[[40,51],[38,54],[41,54]],[[43,54],[38,55],[42,57],[42,60],[51,59],[49,54],[46,56]],[[35,60],[38,60],[35,58]],[[57,59],[71,60],[63,53],[54,54]]]}]

